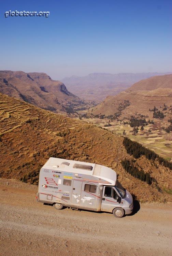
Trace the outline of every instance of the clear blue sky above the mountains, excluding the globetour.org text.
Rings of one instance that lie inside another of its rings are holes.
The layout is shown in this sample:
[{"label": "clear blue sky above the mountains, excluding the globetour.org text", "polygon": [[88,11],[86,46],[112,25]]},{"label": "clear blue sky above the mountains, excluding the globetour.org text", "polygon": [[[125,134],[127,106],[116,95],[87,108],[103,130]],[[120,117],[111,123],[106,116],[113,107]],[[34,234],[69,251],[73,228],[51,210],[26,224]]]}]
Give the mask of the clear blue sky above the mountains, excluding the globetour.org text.
[{"label": "clear blue sky above the mountains, excluding the globetour.org text", "polygon": [[[50,16],[5,18],[10,10]],[[6,0],[0,32],[0,70],[45,72],[57,80],[172,71],[170,0]]]}]

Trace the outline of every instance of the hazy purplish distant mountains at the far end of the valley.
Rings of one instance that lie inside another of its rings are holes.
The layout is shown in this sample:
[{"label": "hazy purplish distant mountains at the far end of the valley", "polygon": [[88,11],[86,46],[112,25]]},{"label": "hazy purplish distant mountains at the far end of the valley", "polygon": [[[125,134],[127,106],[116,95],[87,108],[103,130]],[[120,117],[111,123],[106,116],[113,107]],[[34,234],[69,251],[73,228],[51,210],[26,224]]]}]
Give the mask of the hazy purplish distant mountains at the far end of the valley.
[{"label": "hazy purplish distant mountains at the far end of the valley", "polygon": [[106,96],[119,94],[142,79],[171,73],[92,73],[81,77],[65,77],[61,81],[78,97],[101,102]]}]

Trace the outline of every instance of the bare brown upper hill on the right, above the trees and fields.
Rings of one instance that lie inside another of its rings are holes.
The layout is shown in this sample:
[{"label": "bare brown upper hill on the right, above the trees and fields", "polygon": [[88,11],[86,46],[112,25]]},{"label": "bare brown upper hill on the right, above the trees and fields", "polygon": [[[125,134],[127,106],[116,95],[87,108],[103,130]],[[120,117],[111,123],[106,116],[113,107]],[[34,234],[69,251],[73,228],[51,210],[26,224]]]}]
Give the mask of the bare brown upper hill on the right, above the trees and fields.
[{"label": "bare brown upper hill on the right, above the trees and fields", "polygon": [[[129,101],[127,106],[125,101]],[[153,113],[149,109],[153,109],[154,106],[160,109],[164,104],[168,106],[172,104],[172,75],[154,76],[135,83],[125,92],[106,97],[102,103],[91,110],[91,113],[108,116],[121,109],[120,119],[134,115],[135,112],[152,118]],[[167,116],[169,118],[168,113]]]}]

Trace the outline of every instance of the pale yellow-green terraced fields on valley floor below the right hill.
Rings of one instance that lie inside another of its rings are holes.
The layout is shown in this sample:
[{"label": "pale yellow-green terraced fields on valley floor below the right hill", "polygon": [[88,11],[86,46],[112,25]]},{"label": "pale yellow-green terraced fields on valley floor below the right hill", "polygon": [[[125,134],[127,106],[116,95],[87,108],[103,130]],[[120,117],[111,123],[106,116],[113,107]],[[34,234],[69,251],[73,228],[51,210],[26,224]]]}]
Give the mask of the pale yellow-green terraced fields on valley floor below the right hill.
[{"label": "pale yellow-green terraced fields on valley floor below the right hill", "polygon": [[[139,131],[135,135],[130,125],[124,125],[120,122],[111,122],[112,126],[104,127],[104,125],[108,123],[108,120],[100,120],[99,118],[84,118],[84,120],[98,127],[100,126],[112,131],[115,134],[127,136],[129,139],[141,143],[146,148],[155,151],[167,160],[172,160],[172,135],[162,129],[162,127],[166,128],[167,125],[160,120],[154,120],[154,125],[149,124],[144,126],[143,131],[141,131],[141,127],[139,127]],[[125,134],[123,134],[124,130]]]}]

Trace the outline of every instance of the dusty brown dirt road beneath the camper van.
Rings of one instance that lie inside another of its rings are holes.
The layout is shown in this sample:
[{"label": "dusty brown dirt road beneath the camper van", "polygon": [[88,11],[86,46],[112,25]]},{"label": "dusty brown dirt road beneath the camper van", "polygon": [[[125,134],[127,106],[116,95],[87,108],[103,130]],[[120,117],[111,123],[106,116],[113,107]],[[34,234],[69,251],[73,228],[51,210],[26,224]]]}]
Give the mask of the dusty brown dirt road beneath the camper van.
[{"label": "dusty brown dirt road beneath the camper van", "polygon": [[137,204],[133,215],[55,210],[37,186],[0,179],[0,255],[172,255],[172,204]]}]

